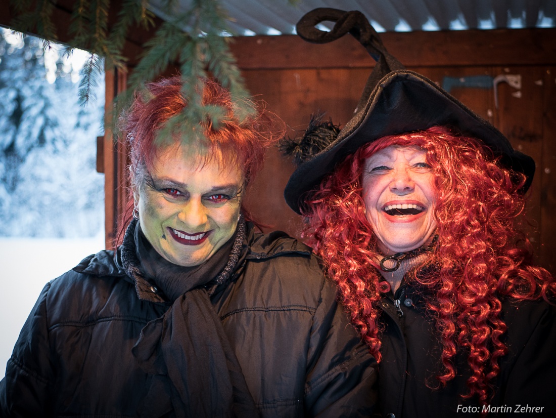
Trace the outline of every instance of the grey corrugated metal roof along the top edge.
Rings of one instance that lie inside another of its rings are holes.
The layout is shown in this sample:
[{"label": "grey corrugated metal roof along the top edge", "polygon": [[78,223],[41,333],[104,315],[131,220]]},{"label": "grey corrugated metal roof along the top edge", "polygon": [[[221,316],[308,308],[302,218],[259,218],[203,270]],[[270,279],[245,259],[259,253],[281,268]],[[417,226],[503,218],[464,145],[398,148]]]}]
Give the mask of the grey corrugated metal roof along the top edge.
[{"label": "grey corrugated metal roof along the top edge", "polygon": [[[152,0],[160,14],[164,0]],[[190,0],[181,0],[188,7]],[[233,35],[291,35],[317,7],[359,10],[378,32],[556,27],[556,0],[221,0]],[[325,26],[326,23],[324,23]]]}]

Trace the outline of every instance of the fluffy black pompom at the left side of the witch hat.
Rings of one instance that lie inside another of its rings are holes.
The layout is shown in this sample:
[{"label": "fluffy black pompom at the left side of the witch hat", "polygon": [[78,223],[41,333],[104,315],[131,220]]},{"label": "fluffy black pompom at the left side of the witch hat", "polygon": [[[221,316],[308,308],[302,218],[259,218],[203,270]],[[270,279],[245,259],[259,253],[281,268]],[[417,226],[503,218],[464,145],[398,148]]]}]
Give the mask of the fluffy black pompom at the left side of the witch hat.
[{"label": "fluffy black pompom at the left side of the witch hat", "polygon": [[332,119],[322,122],[324,115],[325,112],[312,114],[309,126],[300,139],[287,137],[280,141],[278,147],[281,153],[292,157],[296,166],[324,151],[340,133],[340,127],[334,125]]}]

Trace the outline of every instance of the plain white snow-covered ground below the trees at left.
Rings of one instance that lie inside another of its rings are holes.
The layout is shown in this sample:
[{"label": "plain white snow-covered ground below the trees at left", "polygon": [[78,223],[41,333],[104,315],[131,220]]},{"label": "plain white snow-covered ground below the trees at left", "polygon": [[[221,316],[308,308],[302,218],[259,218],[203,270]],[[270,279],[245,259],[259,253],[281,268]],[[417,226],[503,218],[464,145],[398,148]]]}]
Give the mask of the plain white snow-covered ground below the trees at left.
[{"label": "plain white snow-covered ground below the trees at left", "polygon": [[0,237],[0,379],[44,284],[103,248],[103,232],[86,239]]}]

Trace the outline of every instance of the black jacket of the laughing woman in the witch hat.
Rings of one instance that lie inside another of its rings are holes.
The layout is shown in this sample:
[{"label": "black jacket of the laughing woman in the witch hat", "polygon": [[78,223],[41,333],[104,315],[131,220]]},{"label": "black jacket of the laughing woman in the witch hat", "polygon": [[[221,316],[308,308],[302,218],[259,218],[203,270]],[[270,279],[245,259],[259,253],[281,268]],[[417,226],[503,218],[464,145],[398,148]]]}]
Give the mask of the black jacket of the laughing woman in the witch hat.
[{"label": "black jacket of the laughing woman in the witch hat", "polygon": [[[384,418],[446,418],[556,416],[556,306],[544,301],[502,302],[501,317],[508,330],[508,347],[493,382],[494,396],[486,405],[464,398],[471,375],[468,352],[459,349],[456,377],[443,389],[435,376],[441,371],[442,346],[434,319],[425,308],[424,292],[402,284],[380,301],[382,360],[379,405]],[[397,306],[397,307],[396,307]],[[483,414],[485,412],[488,415]],[[482,414],[482,415],[481,415]]]}]

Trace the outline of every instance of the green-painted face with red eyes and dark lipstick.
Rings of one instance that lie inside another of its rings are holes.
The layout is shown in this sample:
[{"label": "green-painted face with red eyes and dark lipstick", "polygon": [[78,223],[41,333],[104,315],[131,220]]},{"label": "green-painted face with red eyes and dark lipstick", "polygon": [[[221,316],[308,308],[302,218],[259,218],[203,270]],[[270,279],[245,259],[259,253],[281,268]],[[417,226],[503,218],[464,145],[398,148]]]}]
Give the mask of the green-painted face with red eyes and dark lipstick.
[{"label": "green-painted face with red eyes and dark lipstick", "polygon": [[244,175],[191,145],[158,150],[151,173],[133,193],[141,229],[169,262],[185,267],[212,257],[234,234]]}]

